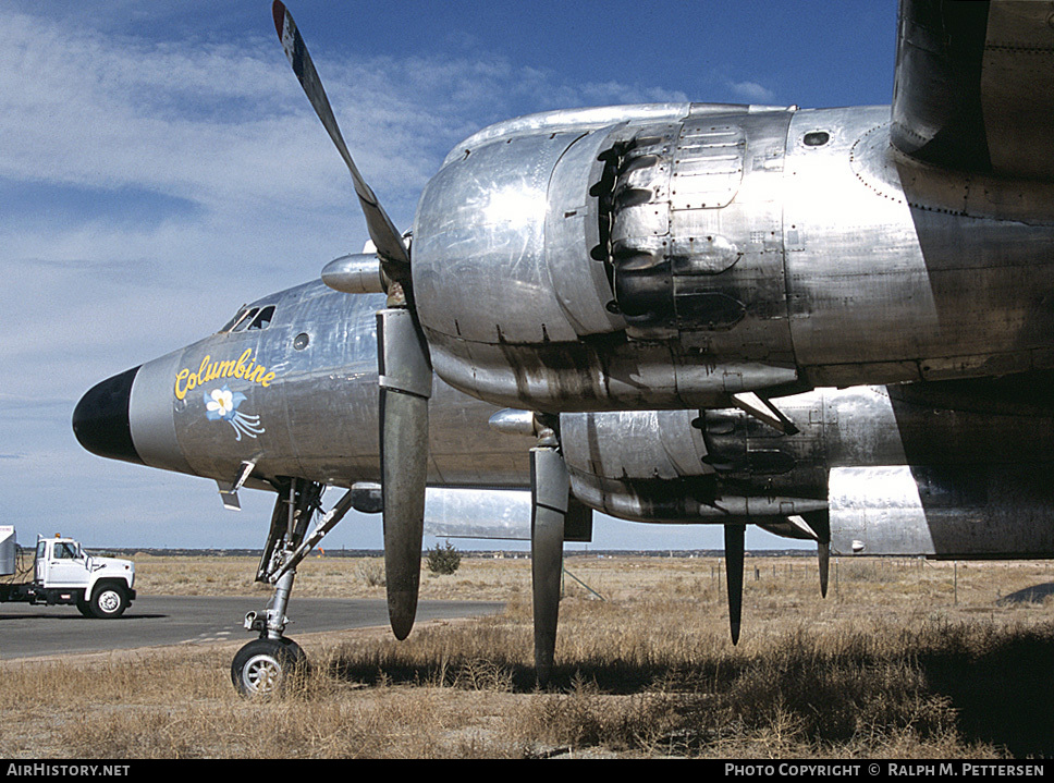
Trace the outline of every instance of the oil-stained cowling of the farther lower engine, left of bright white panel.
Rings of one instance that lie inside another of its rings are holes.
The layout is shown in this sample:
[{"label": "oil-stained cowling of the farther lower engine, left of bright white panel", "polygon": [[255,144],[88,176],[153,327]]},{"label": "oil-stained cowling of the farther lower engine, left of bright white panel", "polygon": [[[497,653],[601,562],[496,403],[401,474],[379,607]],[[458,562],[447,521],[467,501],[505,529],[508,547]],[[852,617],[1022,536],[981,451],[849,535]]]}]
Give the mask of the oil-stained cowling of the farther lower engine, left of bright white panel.
[{"label": "oil-stained cowling of the farther lower engine, left of bright white panel", "polygon": [[[740,418],[740,414],[744,418]],[[564,414],[561,443],[575,497],[623,519],[771,523],[826,509],[819,427],[773,436],[739,411]],[[730,423],[733,423],[730,426]],[[714,448],[716,429],[723,440]],[[726,464],[728,452],[742,460]],[[773,457],[779,453],[781,456]],[[715,460],[721,455],[720,460]]]}]

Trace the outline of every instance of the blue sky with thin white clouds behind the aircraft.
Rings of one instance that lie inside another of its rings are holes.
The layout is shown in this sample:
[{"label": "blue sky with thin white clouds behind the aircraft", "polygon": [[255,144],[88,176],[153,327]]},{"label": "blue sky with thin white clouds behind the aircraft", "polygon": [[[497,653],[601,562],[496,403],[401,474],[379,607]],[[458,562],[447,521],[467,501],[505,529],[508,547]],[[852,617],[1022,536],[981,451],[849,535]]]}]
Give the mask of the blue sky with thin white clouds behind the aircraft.
[{"label": "blue sky with thin white clouds behind the aircraft", "polygon": [[[508,117],[697,100],[888,103],[896,8],[848,2],[287,3],[400,227],[446,151]],[[271,497],[93,456],[95,382],[189,343],[367,238],[269,0],[0,1],[0,490],[22,543],[259,547]],[[330,548],[380,547],[379,517]],[[606,519],[592,548],[719,547]],[[760,533],[748,546],[783,546]]]}]

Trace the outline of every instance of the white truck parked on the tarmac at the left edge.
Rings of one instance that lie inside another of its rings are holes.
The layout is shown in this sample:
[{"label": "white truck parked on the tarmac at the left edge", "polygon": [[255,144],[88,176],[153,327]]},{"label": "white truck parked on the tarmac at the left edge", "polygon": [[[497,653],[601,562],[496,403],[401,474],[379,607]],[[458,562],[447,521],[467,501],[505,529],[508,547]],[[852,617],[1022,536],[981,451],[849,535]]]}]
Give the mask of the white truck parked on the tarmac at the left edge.
[{"label": "white truck parked on the tarmac at the left edge", "polygon": [[[72,538],[37,536],[30,567],[20,568],[14,527],[0,525],[0,603],[68,603],[86,617],[120,617],[135,600],[135,564],[89,554]],[[23,579],[23,580],[19,580]]]}]

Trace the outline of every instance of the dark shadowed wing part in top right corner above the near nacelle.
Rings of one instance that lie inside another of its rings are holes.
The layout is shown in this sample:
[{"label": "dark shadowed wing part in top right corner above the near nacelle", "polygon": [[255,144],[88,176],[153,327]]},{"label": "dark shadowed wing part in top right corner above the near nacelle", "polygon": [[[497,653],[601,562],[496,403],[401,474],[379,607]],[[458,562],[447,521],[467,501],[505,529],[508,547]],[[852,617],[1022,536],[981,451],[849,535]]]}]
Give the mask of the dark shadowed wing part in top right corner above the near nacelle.
[{"label": "dark shadowed wing part in top right corner above the near nacelle", "polygon": [[926,163],[1054,179],[1054,7],[900,0],[893,143]]}]

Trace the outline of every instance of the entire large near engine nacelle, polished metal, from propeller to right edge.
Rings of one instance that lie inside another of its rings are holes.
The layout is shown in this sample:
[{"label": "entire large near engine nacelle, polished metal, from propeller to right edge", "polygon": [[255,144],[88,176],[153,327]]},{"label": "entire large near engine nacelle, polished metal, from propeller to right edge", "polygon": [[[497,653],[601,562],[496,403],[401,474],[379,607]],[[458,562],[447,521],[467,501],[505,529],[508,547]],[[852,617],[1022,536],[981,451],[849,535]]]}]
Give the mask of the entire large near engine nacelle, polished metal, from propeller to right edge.
[{"label": "entire large near engine nacelle, polished metal, from propeller to right edge", "polygon": [[1054,366],[1052,187],[907,159],[888,111],[614,107],[476,134],[414,229],[436,371],[557,413]]}]

